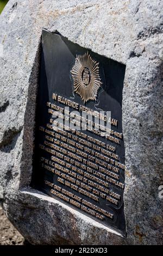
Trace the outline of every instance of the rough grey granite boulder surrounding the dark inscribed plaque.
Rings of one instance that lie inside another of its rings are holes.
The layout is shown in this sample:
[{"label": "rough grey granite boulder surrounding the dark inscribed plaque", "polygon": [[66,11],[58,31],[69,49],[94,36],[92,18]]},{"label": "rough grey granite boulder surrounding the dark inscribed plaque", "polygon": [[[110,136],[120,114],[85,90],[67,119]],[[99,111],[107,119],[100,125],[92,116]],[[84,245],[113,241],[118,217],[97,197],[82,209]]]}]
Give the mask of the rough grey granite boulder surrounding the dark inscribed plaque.
[{"label": "rough grey granite boulder surrounding the dark inscribed plaque", "polygon": [[[0,16],[0,198],[33,244],[162,244],[161,0],[10,0]],[[126,64],[127,238],[29,187],[42,28]]]}]

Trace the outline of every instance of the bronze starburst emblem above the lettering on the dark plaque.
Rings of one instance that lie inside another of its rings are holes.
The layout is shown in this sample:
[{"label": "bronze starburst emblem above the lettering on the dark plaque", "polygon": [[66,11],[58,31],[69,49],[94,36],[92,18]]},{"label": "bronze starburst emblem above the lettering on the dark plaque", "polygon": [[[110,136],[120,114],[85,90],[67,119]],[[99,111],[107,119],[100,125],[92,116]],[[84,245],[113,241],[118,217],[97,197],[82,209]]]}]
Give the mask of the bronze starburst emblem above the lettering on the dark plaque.
[{"label": "bronze starburst emblem above the lettering on the dark plaque", "polygon": [[89,52],[77,55],[71,70],[74,92],[85,102],[96,100],[97,91],[102,82],[99,76],[99,63],[93,60]]}]

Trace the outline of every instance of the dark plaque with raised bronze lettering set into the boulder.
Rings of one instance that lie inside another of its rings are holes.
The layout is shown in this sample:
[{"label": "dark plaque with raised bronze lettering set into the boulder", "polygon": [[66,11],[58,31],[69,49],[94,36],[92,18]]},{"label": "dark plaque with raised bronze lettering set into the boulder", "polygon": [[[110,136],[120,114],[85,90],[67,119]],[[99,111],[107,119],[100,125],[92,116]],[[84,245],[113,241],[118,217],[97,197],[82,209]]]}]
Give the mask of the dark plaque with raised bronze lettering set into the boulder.
[{"label": "dark plaque with raised bronze lettering set into the boulder", "polygon": [[37,190],[124,236],[125,69],[43,30],[32,179]]}]

